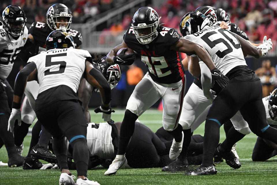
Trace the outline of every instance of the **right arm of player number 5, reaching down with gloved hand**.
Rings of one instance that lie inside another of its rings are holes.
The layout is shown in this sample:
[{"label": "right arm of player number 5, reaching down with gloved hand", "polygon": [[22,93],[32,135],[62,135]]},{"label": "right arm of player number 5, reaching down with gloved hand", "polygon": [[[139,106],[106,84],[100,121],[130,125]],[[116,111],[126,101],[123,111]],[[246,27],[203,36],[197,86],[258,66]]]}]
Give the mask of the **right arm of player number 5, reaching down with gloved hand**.
[{"label": "right arm of player number 5, reaching down with gloved hand", "polygon": [[102,118],[104,121],[109,121],[111,119],[111,113],[114,110],[111,109],[111,87],[103,74],[93,67],[93,65],[86,61],[86,69],[85,69],[85,79],[93,86],[99,89],[102,103],[101,106],[96,108],[94,112],[103,112]]}]

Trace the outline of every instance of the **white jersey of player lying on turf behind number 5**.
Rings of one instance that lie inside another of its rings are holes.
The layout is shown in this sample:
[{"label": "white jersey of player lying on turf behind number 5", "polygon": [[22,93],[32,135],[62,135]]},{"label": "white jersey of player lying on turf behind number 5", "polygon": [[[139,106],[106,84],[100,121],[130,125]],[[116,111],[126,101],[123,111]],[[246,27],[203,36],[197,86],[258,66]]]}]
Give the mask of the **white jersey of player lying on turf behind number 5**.
[{"label": "white jersey of player lying on turf behind number 5", "polygon": [[[98,127],[99,126],[99,127]],[[112,126],[108,123],[89,123],[87,126],[87,147],[91,156],[111,159],[114,155]]]}]

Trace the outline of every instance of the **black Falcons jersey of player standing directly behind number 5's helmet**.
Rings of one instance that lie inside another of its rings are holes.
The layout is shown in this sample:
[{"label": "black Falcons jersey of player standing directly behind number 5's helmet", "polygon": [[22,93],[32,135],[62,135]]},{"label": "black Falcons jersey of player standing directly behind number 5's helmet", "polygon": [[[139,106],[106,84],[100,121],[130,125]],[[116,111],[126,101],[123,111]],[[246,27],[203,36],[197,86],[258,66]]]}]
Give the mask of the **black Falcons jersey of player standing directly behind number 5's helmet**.
[{"label": "black Falcons jersey of player standing directly behind number 5's helmet", "polygon": [[[45,49],[45,42],[48,37],[48,35],[53,32],[47,24],[41,23],[41,22],[34,22],[31,27],[29,28],[29,34],[32,34],[34,40],[35,40],[35,52],[36,54],[39,54],[41,51],[46,51]],[[76,47],[80,46],[82,44],[82,36],[81,33],[69,29],[67,32],[72,36]],[[43,49],[44,48],[44,49]]]}]

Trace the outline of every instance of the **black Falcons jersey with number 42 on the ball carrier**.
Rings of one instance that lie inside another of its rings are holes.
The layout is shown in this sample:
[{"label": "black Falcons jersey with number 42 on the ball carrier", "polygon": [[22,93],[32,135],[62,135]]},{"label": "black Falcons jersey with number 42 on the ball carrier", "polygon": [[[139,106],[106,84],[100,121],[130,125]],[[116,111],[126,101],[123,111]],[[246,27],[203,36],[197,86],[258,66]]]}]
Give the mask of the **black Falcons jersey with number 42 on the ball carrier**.
[{"label": "black Falcons jersey with number 42 on the ball carrier", "polygon": [[129,48],[141,54],[141,61],[148,68],[151,78],[158,83],[172,84],[184,77],[184,67],[180,53],[169,48],[181,38],[174,28],[161,27],[158,36],[149,44],[143,45],[136,39],[133,27],[123,36]]}]

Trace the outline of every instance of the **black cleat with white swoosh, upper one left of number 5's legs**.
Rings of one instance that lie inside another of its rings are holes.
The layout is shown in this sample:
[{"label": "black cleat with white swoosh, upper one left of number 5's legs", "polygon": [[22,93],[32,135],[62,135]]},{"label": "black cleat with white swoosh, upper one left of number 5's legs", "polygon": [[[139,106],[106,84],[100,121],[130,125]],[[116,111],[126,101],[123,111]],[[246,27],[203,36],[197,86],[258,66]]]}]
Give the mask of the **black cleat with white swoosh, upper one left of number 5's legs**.
[{"label": "black cleat with white swoosh, upper one left of number 5's legs", "polygon": [[51,153],[48,148],[41,147],[38,144],[32,148],[30,152],[30,156],[33,156],[36,159],[41,159],[50,163],[57,162],[57,157],[53,153]]}]

